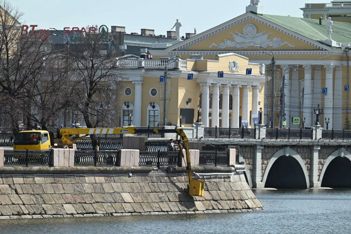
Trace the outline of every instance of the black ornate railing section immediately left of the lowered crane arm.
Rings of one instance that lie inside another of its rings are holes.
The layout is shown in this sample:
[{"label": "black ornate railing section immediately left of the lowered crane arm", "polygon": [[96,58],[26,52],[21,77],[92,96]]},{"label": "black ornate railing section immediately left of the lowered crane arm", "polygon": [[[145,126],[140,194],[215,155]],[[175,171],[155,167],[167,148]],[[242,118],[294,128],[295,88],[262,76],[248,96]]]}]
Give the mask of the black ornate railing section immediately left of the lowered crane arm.
[{"label": "black ornate railing section immediately left of the lowered crane arm", "polygon": [[173,152],[140,151],[139,166],[150,166],[150,167],[179,166],[180,158],[181,158],[180,151],[173,151]]}]

